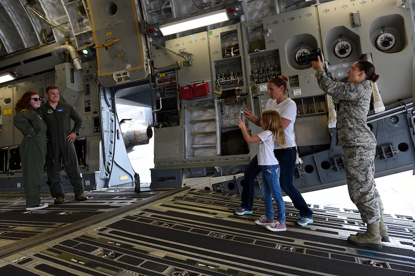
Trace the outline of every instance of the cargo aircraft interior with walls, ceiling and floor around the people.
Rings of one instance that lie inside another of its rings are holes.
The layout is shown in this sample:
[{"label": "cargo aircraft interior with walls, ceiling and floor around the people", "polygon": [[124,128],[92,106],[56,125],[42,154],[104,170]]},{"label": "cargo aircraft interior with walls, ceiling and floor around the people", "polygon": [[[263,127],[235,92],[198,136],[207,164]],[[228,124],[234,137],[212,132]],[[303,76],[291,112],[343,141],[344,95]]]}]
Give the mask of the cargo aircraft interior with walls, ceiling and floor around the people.
[{"label": "cargo aircraft interior with walls, ceiling and floor around the people", "polygon": [[[280,75],[297,106],[293,185],[346,185],[319,52],[339,80],[357,60],[374,64],[374,175],[415,173],[414,0],[0,0],[0,22],[0,275],[415,273],[414,212],[383,215],[381,249],[347,241],[366,229],[357,208],[309,203],[301,226],[285,202],[287,229],[273,232],[255,223],[266,213],[257,176],[252,214],[234,213],[258,150],[240,114],[260,116]],[[49,206],[26,210],[15,106],[26,91],[44,103],[50,85],[82,119],[73,145],[88,200],[74,200],[62,165],[65,202],[45,168]],[[129,154],[148,145],[143,181]]]}]

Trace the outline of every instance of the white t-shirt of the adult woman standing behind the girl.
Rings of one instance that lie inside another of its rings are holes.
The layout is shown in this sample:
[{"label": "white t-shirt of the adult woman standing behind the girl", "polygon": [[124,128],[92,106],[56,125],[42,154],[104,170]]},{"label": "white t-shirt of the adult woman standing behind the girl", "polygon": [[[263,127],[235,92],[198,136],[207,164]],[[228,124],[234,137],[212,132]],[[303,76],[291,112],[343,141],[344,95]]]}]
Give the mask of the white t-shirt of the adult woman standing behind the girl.
[{"label": "white t-shirt of the adult woman standing behind the girl", "polygon": [[[265,110],[275,110],[280,114],[281,118],[285,118],[291,121],[291,123],[284,130],[285,132],[285,142],[286,147],[295,147],[295,138],[294,138],[294,123],[295,118],[297,117],[297,105],[290,98],[285,99],[281,103],[277,104],[277,100],[270,99],[265,106]],[[279,149],[277,144],[275,148]]]}]

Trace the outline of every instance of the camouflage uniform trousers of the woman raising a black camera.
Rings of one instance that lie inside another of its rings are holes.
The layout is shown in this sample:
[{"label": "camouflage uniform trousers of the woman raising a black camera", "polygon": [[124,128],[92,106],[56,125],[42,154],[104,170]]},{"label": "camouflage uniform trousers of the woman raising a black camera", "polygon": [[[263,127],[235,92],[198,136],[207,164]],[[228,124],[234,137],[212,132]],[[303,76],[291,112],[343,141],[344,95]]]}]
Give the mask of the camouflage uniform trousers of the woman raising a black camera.
[{"label": "camouflage uniform trousers of the woman raising a black camera", "polygon": [[362,221],[374,224],[380,221],[383,204],[376,190],[375,147],[343,146],[344,165],[350,199],[356,204]]}]

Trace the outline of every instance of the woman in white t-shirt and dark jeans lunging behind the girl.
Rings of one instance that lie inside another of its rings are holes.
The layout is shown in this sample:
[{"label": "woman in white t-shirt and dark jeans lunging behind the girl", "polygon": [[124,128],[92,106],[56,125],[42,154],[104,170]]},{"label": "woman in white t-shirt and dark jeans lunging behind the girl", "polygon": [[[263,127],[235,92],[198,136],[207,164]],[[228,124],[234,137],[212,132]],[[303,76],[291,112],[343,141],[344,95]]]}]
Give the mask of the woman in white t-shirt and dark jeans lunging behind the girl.
[{"label": "woman in white t-shirt and dark jeans lunging behind the girl", "polygon": [[[276,147],[274,150],[275,157],[278,159],[281,167],[280,185],[282,191],[290,197],[294,207],[300,215],[295,222],[298,225],[305,226],[313,222],[313,212],[304,201],[300,192],[293,185],[294,167],[297,156],[297,149],[294,139],[294,122],[297,116],[297,105],[293,100],[287,97],[287,76],[282,75],[268,80],[268,94],[271,99],[268,100],[265,110],[275,110],[281,116],[282,127],[287,142],[286,148]],[[245,110],[246,119],[261,126],[261,118],[258,118],[250,110]],[[253,213],[255,177],[260,173],[258,158],[254,156],[246,166],[241,193],[242,203],[240,207],[234,210],[237,215],[248,215]]]}]

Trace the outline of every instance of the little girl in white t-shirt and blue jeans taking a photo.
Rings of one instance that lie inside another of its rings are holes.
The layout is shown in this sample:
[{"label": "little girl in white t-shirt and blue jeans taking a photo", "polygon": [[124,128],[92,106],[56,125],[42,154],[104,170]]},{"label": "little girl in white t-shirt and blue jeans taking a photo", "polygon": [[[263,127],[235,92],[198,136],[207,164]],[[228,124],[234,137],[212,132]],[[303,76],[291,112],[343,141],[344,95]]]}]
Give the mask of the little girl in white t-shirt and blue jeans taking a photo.
[{"label": "little girl in white t-shirt and blue jeans taking a photo", "polygon": [[[261,167],[262,195],[264,197],[266,215],[263,215],[255,223],[265,225],[271,231],[285,231],[285,205],[280,188],[280,165],[274,155],[274,147],[285,147],[284,129],[278,112],[269,110],[262,114],[261,127],[264,130],[258,135],[251,136],[246,129],[244,119],[239,119],[238,127],[242,131],[247,143],[258,142],[258,165]],[[274,197],[278,208],[278,220],[274,220],[272,208]]]}]

